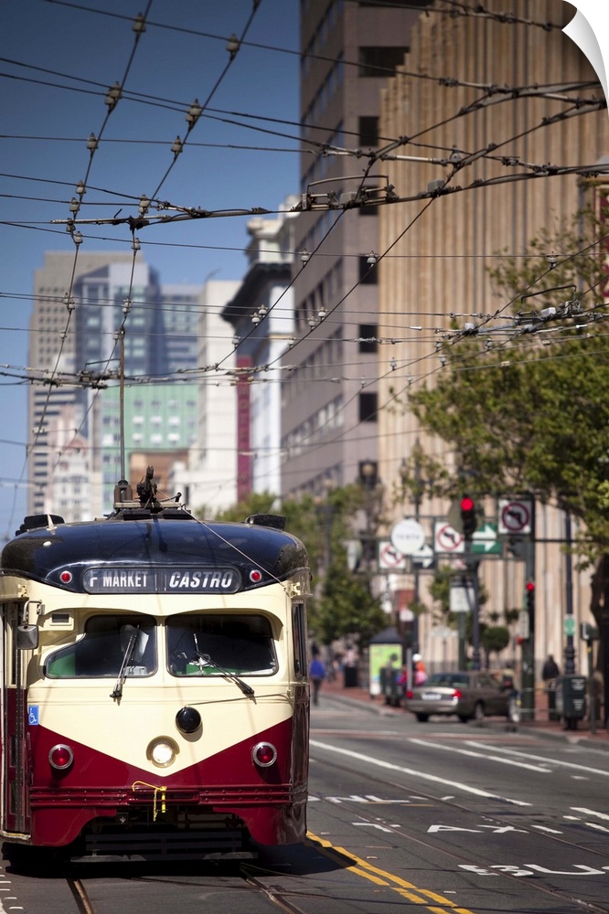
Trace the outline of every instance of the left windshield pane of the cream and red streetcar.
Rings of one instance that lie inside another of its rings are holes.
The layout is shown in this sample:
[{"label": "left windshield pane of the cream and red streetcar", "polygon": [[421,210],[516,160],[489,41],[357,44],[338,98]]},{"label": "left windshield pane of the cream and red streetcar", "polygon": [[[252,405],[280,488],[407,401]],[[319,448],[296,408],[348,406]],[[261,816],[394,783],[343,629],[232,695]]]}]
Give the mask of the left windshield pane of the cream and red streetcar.
[{"label": "left windshield pane of the cream and red streetcar", "polygon": [[143,615],[91,616],[80,639],[50,654],[50,678],[116,677],[124,663],[127,676],[155,672],[155,620]]}]

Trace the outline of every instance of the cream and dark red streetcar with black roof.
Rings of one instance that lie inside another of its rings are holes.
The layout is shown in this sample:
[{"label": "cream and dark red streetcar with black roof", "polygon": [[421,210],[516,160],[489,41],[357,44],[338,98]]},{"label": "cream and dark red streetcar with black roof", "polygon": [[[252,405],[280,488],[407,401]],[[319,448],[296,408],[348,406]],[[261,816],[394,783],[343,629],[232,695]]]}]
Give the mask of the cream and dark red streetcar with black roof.
[{"label": "cream and dark red streetcar with black roof", "polygon": [[151,467],[135,492],[121,480],[97,520],[29,516],[2,550],[16,864],[29,848],[240,859],[305,838],[305,547],[277,515],[199,520]]}]

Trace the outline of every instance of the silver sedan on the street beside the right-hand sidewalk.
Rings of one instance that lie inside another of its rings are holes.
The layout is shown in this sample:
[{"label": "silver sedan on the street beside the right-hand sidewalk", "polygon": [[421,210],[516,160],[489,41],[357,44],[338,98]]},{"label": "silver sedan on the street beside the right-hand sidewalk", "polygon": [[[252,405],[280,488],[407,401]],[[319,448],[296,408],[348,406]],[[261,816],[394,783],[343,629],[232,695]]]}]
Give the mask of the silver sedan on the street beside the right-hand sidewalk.
[{"label": "silver sedan on the street beside the right-hand sidewalk", "polygon": [[404,695],[404,707],[422,723],[433,714],[455,714],[466,720],[488,715],[510,715],[512,684],[499,682],[480,670],[434,673],[424,685],[413,685]]}]

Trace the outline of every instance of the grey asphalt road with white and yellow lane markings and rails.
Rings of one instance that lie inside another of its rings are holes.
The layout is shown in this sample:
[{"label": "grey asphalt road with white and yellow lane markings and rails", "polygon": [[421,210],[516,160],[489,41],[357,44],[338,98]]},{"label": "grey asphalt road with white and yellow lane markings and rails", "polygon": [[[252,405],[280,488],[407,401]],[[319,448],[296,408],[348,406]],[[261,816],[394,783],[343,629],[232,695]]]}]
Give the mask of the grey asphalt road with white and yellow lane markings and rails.
[{"label": "grey asphalt road with white and yellow lane markings and rails", "polygon": [[309,837],[241,866],[5,870],[25,914],[609,911],[609,756],[505,721],[312,708]]}]

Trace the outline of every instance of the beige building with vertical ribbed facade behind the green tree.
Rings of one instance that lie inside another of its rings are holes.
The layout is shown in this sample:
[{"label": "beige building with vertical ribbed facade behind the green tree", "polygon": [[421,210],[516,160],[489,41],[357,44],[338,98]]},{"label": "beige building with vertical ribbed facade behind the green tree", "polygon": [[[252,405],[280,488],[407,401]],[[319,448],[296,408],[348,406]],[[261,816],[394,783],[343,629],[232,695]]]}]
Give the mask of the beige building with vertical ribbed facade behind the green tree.
[{"label": "beige building with vertical ribbed facade behind the green tree", "polygon": [[[573,7],[558,0],[489,0],[484,15],[449,16],[442,12],[448,9],[454,5],[437,2],[419,17],[411,52],[389,82],[380,114],[382,137],[408,138],[392,151],[396,158],[386,160],[399,197],[442,186],[452,174],[451,154],[472,156],[471,164],[446,185],[463,190],[381,207],[379,337],[397,341],[385,350],[385,364],[380,356],[379,473],[388,482],[399,480],[402,458],[417,439],[426,452],[451,459],[444,453],[446,445],[426,438],[408,411],[390,408],[394,393],[407,401],[411,386],[433,383],[442,370],[436,344],[450,328],[451,315],[463,327],[497,309],[512,313],[489,281],[497,252],[523,254],[541,228],[557,228],[590,193],[578,175],[548,175],[544,165],[581,168],[609,154],[602,87],[582,52],[561,31]],[[493,11],[513,19],[493,16]],[[489,183],[492,179],[496,183]],[[599,183],[602,179],[596,193]],[[480,345],[483,349],[483,338]],[[441,503],[419,505],[430,541],[433,518],[445,518],[447,510]],[[412,514],[412,505],[400,505],[394,521]],[[495,503],[489,501],[486,515],[497,516]],[[564,517],[538,505],[535,520],[539,675],[549,653],[563,665],[570,573],[578,631],[579,622],[591,616],[589,576],[568,569],[560,544],[548,542],[564,537]],[[493,609],[501,613],[522,606],[524,573],[524,563],[514,558],[481,561],[480,577]],[[422,600],[431,605],[429,580],[422,572],[418,586]],[[391,586],[395,593],[411,594],[413,576],[396,576]],[[419,623],[419,643],[433,663],[454,661],[456,640],[447,632],[438,637],[428,614]],[[574,646],[578,671],[587,672],[579,637]],[[516,646],[506,654],[513,654],[518,664]]]}]

